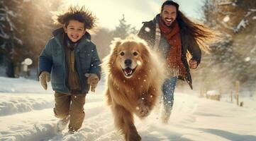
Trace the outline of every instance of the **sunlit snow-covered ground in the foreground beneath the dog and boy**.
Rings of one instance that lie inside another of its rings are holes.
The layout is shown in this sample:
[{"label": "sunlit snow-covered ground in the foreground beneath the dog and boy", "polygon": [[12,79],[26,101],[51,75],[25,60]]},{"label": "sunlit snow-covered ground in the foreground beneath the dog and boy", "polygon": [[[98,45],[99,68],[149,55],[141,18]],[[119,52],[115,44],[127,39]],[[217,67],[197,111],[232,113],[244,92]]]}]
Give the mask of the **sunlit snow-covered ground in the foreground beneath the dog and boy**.
[{"label": "sunlit snow-covered ground in the foreground beneath the dog and boy", "polygon": [[[92,98],[88,98],[84,106],[86,118],[82,128],[74,135],[69,135],[67,130],[61,134],[54,133],[54,123],[57,119],[53,116],[52,108],[48,108],[0,116],[0,126],[6,127],[0,130],[1,140],[123,140],[113,128],[111,111],[104,104],[102,95],[88,97]],[[233,112],[230,112],[230,109]],[[256,140],[256,131],[253,131],[255,126],[251,125],[256,114],[250,114],[250,111],[253,109],[238,108],[235,104],[220,104],[178,93],[168,125],[160,124],[156,111],[152,111],[150,117],[144,121],[136,118],[135,122],[145,141]],[[237,120],[239,118],[241,120]],[[250,120],[244,121],[244,118]],[[6,121],[9,121],[7,125]],[[225,125],[218,124],[219,122]],[[241,129],[235,129],[236,124],[240,125]]]}]

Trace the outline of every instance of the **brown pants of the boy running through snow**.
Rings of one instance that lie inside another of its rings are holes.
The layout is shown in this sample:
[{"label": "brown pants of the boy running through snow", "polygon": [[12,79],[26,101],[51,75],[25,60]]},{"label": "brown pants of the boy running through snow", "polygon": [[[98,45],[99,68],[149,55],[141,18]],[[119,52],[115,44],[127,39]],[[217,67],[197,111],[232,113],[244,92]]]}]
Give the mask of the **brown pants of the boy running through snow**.
[{"label": "brown pants of the boy running through snow", "polygon": [[82,127],[84,121],[85,94],[62,94],[55,92],[55,108],[53,109],[57,118],[69,119],[69,130],[77,131]]}]

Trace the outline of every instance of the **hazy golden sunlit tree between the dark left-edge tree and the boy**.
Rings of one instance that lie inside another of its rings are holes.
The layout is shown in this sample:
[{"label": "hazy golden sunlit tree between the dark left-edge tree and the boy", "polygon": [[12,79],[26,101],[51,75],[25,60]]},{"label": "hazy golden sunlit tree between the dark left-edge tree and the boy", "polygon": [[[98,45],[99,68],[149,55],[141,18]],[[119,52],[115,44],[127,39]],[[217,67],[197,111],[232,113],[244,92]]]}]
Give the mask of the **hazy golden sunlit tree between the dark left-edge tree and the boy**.
[{"label": "hazy golden sunlit tree between the dark left-edge tree and the boy", "polygon": [[60,0],[23,2],[22,20],[25,24],[23,24],[22,29],[25,32],[22,39],[28,56],[35,62],[33,63],[34,66],[37,66],[40,51],[45,47],[48,39],[52,37],[52,30],[55,29],[51,11],[57,11],[57,6],[60,5]]}]

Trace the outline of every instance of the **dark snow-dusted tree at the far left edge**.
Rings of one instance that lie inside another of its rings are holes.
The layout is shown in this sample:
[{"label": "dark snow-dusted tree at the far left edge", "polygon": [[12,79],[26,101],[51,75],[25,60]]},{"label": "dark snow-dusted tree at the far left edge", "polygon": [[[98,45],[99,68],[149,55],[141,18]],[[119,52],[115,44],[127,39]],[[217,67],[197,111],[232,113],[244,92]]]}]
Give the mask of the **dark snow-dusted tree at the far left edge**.
[{"label": "dark snow-dusted tree at the far left edge", "polygon": [[6,59],[6,75],[14,78],[14,66],[18,60],[17,51],[22,48],[20,37],[22,0],[0,1],[0,56]]}]

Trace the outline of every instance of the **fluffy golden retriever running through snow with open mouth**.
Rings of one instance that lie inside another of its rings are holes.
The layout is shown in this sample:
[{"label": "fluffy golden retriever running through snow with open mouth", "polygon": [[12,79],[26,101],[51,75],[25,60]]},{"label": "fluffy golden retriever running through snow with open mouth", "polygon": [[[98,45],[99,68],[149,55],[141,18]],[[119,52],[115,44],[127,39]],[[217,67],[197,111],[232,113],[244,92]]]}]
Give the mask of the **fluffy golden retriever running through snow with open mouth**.
[{"label": "fluffy golden retriever running through snow with open mouth", "polygon": [[133,35],[114,39],[103,62],[106,98],[116,128],[126,141],[141,140],[133,114],[144,118],[157,104],[165,78],[165,65],[143,39]]}]

